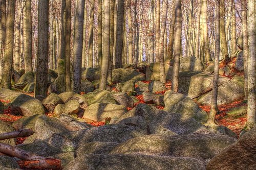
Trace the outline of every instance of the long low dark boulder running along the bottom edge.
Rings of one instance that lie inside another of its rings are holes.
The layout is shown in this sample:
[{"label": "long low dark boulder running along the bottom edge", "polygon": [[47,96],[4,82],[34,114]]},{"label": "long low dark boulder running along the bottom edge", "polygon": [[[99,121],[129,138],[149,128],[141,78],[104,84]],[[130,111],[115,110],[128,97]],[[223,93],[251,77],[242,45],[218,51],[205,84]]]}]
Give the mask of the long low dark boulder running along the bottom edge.
[{"label": "long low dark boulder running along the bottom edge", "polygon": [[148,155],[97,155],[85,154],[70,162],[63,170],[80,169],[172,169],[172,170],[203,170],[203,162],[182,157],[160,157]]}]

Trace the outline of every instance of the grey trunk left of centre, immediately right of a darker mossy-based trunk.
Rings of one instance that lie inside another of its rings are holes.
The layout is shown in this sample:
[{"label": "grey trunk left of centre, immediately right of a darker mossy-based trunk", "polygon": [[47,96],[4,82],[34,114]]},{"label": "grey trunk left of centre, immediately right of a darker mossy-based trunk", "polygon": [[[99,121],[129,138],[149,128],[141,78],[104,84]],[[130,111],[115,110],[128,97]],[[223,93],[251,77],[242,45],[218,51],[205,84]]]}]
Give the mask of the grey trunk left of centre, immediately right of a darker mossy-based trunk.
[{"label": "grey trunk left of centre, immediately right of a darker mossy-based trunk", "polygon": [[73,86],[72,91],[80,92],[82,74],[82,42],[83,42],[83,17],[84,0],[77,1],[75,16],[75,38],[74,38],[74,64],[73,64]]}]

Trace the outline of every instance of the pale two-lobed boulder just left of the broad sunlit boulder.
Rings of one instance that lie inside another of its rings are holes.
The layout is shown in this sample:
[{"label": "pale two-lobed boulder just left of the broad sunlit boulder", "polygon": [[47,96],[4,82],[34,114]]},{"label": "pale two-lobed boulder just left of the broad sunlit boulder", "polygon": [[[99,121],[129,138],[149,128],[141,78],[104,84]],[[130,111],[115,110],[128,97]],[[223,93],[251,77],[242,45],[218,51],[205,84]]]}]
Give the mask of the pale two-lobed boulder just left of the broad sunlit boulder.
[{"label": "pale two-lobed boulder just left of the broad sunlit boulder", "polygon": [[77,100],[70,100],[65,104],[58,104],[53,113],[56,115],[60,114],[77,114],[80,109],[80,105]]}]

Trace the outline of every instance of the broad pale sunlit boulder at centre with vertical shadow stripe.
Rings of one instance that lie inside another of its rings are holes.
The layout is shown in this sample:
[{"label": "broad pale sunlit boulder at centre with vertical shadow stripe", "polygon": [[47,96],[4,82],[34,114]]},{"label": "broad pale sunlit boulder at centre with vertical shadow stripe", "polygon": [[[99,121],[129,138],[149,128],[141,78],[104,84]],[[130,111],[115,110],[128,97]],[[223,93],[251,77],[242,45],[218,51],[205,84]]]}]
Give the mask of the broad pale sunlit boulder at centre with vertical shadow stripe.
[{"label": "broad pale sunlit boulder at centre with vertical shadow stripe", "polygon": [[93,120],[94,122],[104,122],[105,118],[111,117],[111,123],[114,123],[119,117],[126,113],[126,107],[115,104],[92,104],[83,113],[83,118]]}]

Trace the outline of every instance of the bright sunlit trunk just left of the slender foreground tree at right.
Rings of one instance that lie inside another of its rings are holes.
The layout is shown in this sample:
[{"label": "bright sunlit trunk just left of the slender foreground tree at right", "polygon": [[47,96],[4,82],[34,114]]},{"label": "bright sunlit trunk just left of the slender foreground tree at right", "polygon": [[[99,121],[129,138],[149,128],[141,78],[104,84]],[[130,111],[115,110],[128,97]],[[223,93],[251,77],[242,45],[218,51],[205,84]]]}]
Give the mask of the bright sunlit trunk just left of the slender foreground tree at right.
[{"label": "bright sunlit trunk just left of the slender foreground tree at right", "polygon": [[205,62],[211,60],[210,56],[210,47],[209,47],[209,40],[208,40],[208,28],[207,28],[207,0],[202,0],[202,34],[204,40],[204,58]]}]

